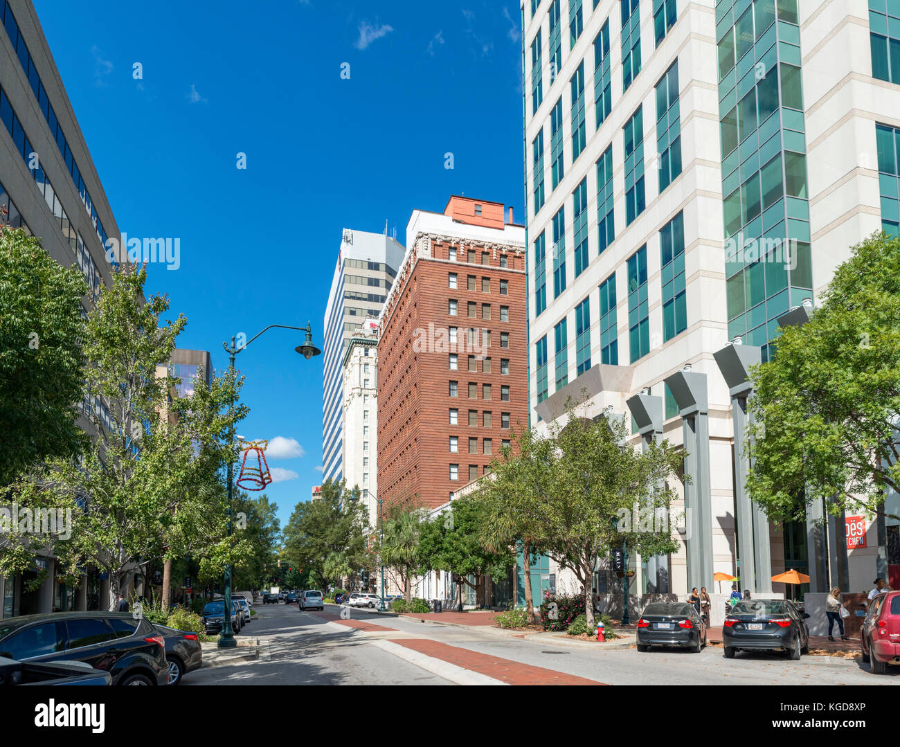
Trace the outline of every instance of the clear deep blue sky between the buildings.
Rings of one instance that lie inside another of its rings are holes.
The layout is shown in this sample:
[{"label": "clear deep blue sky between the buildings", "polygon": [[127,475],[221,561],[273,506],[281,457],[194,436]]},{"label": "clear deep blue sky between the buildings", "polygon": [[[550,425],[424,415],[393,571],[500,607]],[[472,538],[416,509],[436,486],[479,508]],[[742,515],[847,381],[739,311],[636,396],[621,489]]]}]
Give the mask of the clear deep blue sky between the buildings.
[{"label": "clear deep blue sky between the buildings", "polygon": [[[33,1],[120,230],[180,238],[148,292],[217,369],[222,341],[268,324],[311,320],[321,347],[342,228],[405,243],[410,212],[452,193],[525,217],[518,4]],[[270,461],[297,475],[266,491],[283,525],[321,482],[322,364],[301,342],[273,329],[238,355],[241,434],[302,447]]]}]

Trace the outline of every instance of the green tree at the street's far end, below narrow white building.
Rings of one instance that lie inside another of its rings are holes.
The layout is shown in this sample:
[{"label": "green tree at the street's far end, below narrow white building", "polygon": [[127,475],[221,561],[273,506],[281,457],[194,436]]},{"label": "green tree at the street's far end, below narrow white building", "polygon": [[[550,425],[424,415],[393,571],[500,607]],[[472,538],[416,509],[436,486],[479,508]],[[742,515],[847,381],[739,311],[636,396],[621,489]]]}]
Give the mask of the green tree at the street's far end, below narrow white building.
[{"label": "green tree at the street's far end, below narrow white building", "polygon": [[[284,527],[284,556],[326,590],[331,581],[370,567],[368,512],[345,482],[326,480],[321,499],[298,503]],[[282,563],[284,566],[284,562]]]}]

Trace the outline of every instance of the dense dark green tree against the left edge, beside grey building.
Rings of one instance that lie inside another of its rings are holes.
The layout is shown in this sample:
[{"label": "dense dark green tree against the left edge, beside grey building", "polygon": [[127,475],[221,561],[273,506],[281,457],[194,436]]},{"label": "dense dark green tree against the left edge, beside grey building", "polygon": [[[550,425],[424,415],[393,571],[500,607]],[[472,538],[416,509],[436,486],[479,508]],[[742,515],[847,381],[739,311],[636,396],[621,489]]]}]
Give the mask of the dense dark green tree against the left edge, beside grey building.
[{"label": "dense dark green tree against the left edge, beside grey building", "polygon": [[76,419],[86,293],[76,267],[60,266],[37,238],[0,221],[0,488],[83,446]]}]

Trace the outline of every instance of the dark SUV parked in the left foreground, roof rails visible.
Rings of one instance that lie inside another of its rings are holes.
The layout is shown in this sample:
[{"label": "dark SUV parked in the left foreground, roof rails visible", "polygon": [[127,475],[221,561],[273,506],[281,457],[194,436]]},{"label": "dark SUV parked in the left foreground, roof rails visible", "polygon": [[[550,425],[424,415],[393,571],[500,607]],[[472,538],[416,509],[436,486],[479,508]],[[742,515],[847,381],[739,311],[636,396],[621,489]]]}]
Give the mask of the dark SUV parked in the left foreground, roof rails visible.
[{"label": "dark SUV parked in the left foreground, roof rails visible", "polygon": [[163,636],[127,612],[55,612],[0,622],[0,656],[19,662],[85,662],[113,685],[165,685]]}]

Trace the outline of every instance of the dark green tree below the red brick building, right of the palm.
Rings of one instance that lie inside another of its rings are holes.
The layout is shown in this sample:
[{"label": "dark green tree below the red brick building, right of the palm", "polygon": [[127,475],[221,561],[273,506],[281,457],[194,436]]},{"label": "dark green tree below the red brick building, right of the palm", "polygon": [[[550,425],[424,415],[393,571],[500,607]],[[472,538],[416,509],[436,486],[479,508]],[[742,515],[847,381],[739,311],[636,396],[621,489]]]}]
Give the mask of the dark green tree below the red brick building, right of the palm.
[{"label": "dark green tree below the red brick building, right of the palm", "polygon": [[[463,584],[481,598],[485,575],[503,578],[515,564],[511,546],[488,549],[482,543],[484,518],[483,502],[470,495],[452,501],[446,511],[419,527],[420,571],[446,571],[461,577],[460,608]],[[467,578],[470,575],[475,583]]]}]

